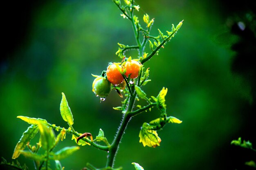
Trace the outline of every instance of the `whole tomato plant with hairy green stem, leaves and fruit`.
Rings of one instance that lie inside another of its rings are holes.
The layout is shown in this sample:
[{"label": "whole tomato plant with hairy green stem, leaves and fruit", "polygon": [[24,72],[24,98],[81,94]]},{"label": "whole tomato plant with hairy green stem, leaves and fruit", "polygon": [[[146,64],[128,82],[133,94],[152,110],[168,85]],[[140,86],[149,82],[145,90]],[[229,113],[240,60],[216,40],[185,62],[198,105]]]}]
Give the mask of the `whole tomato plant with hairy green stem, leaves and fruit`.
[{"label": "whole tomato plant with hairy green stem, leaves and fruit", "polygon": [[[128,122],[132,117],[150,111],[152,108],[157,108],[159,110],[159,117],[153,119],[152,121],[144,122],[138,133],[139,142],[143,146],[148,146],[155,148],[160,146],[162,139],[157,134],[157,130],[161,130],[168,123],[180,124],[182,121],[179,119],[168,116],[166,113],[165,96],[167,94],[167,88],[163,87],[157,96],[150,95],[148,97],[146,93],[142,90],[142,87],[150,82],[148,79],[149,69],[144,69],[143,64],[150,60],[151,57],[158,54],[159,49],[163,47],[171,38],[174,37],[175,33],[180,29],[182,22],[177,24],[175,27],[172,25],[171,30],[166,31],[167,35],[164,35],[159,29],[158,36],[150,35],[150,29],[154,22],[154,19],[149,18],[146,14],[143,17],[144,28],[139,24],[139,19],[134,15],[134,11],[139,11],[139,5],[135,5],[134,0],[124,0],[121,4],[120,0],[112,0],[115,5],[120,9],[121,16],[130,20],[132,23],[132,29],[135,34],[137,45],[124,45],[120,44],[116,55],[120,57],[120,63],[112,63],[108,66],[107,70],[102,71],[100,76],[93,75],[96,77],[92,82],[92,91],[101,98],[101,101],[105,99],[112,89],[116,89],[120,97],[121,91],[124,92],[124,101],[121,102],[121,106],[115,107],[113,109],[120,110],[122,115],[122,120],[120,126],[117,128],[117,133],[111,143],[104,136],[102,129],[99,130],[98,135],[94,135],[90,132],[79,133],[74,130],[73,124],[73,114],[67,103],[67,99],[62,93],[60,112],[64,121],[67,122],[68,128],[56,126],[55,124],[48,123],[45,119],[40,118],[30,118],[25,116],[18,116],[18,118],[31,124],[29,128],[23,133],[20,141],[16,145],[13,152],[13,159],[23,155],[29,159],[34,160],[36,170],[63,170],[64,167],[61,166],[61,159],[66,158],[73,152],[79,150],[79,146],[89,145],[99,150],[102,150],[107,155],[106,166],[103,168],[95,168],[90,163],[85,166],[88,170],[121,170],[122,168],[114,168],[114,160],[117,155],[117,150],[121,139],[125,133],[125,129]],[[143,35],[143,37],[140,37]],[[151,41],[154,43],[152,43]],[[145,52],[145,46],[149,44],[150,52]],[[155,45],[155,46],[154,46]],[[132,60],[131,57],[126,58],[124,53],[127,50],[136,49],[138,50],[138,58]],[[121,66],[119,65],[121,64]],[[137,105],[135,107],[135,100],[143,99],[146,101],[145,106]],[[95,122],[96,123],[96,122]],[[56,130],[59,134],[55,137],[53,130]],[[30,141],[34,136],[40,132],[40,141],[36,146],[31,146]],[[54,148],[58,144],[58,141],[62,141],[66,138],[66,134],[72,136],[71,140],[75,141],[76,145],[73,147],[65,147],[57,152],[54,152]],[[93,136],[95,138],[93,138]],[[90,139],[88,138],[90,137]],[[99,144],[99,142],[103,144]],[[26,151],[25,148],[29,151]],[[43,149],[43,152],[38,152],[38,150]],[[55,168],[50,168],[50,161],[55,161]],[[132,163],[136,170],[143,170],[143,168],[138,163]],[[15,165],[11,165],[16,167]],[[17,168],[17,167],[16,167]],[[20,167],[18,167],[20,169]]]}]

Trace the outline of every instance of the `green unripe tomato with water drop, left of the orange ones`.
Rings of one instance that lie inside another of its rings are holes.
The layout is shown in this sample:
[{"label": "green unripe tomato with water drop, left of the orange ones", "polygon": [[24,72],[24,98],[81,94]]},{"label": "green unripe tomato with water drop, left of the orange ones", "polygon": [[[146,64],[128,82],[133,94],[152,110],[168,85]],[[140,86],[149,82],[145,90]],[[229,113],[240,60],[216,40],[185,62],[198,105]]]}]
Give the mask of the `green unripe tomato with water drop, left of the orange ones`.
[{"label": "green unripe tomato with water drop, left of the orange ones", "polygon": [[92,82],[92,91],[99,97],[107,97],[111,91],[110,82],[105,77],[97,77]]}]

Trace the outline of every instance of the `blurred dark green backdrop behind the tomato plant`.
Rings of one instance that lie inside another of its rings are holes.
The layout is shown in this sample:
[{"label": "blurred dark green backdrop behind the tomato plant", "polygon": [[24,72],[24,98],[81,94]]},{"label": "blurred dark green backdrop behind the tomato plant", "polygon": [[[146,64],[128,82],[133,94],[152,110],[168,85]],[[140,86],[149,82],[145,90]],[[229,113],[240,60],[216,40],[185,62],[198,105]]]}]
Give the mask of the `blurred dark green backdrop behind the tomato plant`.
[{"label": "blurred dark green backdrop behind the tomato plant", "polygon": [[[153,109],[130,121],[122,139],[115,167],[145,170],[250,169],[245,161],[252,151],[231,146],[233,139],[256,146],[255,2],[200,0],[137,0],[140,17],[148,13],[165,32],[184,20],[177,35],[145,64],[150,79],[143,90],[156,96],[168,88],[167,112],[183,121],[159,131],[161,146],[143,147],[139,130],[158,117]],[[111,0],[53,0],[7,2],[2,11],[0,60],[0,156],[11,156],[22,132],[29,126],[16,117],[40,117],[68,127],[59,104],[64,92],[74,115],[75,130],[99,128],[112,141],[121,121],[121,98],[112,91],[104,102],[92,93],[93,74],[118,62],[117,42],[133,45],[131,24],[120,16]],[[142,18],[140,18],[141,25]],[[136,51],[126,53],[136,57]],[[142,103],[143,104],[143,103]],[[67,135],[67,138],[71,138]],[[65,140],[56,150],[74,146]],[[34,140],[34,143],[36,140]],[[255,147],[254,147],[255,148]],[[81,147],[64,159],[65,170],[81,170],[86,162],[103,167],[105,152]],[[21,164],[33,169],[32,161],[20,156]]]}]

